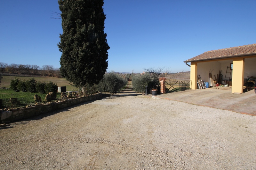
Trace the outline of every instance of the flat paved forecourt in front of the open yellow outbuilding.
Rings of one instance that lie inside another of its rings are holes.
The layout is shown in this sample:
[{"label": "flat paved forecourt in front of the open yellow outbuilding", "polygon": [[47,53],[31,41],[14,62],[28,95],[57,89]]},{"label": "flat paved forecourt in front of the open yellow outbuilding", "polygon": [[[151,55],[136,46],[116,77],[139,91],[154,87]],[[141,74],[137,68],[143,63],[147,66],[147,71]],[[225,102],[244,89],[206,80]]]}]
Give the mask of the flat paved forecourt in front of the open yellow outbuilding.
[{"label": "flat paved forecourt in front of the open yellow outbuilding", "polygon": [[243,94],[233,94],[231,87],[212,87],[159,94],[156,97],[256,116],[256,94],[253,89]]}]

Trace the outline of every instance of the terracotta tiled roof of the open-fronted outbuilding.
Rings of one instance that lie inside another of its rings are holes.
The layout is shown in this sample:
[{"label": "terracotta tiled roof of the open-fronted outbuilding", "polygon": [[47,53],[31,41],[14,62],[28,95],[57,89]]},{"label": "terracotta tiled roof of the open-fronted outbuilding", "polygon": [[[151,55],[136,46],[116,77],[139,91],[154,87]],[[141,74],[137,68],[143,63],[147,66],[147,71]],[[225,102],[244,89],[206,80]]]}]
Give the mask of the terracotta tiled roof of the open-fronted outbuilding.
[{"label": "terracotta tiled roof of the open-fronted outbuilding", "polygon": [[256,55],[256,44],[207,51],[207,52],[204,52],[203,54],[197,55],[193,58],[190,58],[184,61],[184,63],[191,62],[191,61],[211,60],[218,57],[229,58],[229,57],[236,57],[236,56],[250,55],[250,54]]}]

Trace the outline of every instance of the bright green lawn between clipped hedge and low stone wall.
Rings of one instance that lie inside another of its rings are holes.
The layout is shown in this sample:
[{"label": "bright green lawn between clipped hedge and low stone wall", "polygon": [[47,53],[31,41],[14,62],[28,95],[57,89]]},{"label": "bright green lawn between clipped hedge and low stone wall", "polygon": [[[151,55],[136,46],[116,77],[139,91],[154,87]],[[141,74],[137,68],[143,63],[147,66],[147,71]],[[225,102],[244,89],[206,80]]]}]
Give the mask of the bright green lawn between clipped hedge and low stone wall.
[{"label": "bright green lawn between clipped hedge and low stone wall", "polygon": [[[0,99],[3,100],[3,105],[8,108],[11,107],[11,103],[9,103],[11,97],[17,98],[18,101],[20,101],[20,105],[13,107],[23,107],[35,104],[34,95],[36,94],[41,97],[42,102],[46,102],[44,101],[46,94],[31,92],[14,92],[10,89],[0,89]],[[57,99],[60,99],[60,93],[57,93]]]}]

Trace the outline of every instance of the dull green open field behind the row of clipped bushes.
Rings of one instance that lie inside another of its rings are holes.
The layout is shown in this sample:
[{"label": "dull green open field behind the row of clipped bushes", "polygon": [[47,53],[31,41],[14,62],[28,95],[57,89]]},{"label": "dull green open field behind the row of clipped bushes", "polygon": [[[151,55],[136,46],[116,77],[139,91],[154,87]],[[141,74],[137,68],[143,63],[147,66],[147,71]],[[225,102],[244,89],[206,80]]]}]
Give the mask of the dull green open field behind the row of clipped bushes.
[{"label": "dull green open field behind the row of clipped bushes", "polygon": [[[15,76],[3,76],[1,80],[1,87],[10,88],[11,80],[14,79]],[[29,80],[32,77],[17,77],[20,80]],[[66,78],[55,78],[55,77],[35,77],[36,81],[44,81],[49,82],[52,81],[53,83],[56,83],[58,86],[66,86],[67,91],[78,91],[76,87],[69,84],[69,81],[66,80]],[[1,98],[0,98],[1,99]]]}]

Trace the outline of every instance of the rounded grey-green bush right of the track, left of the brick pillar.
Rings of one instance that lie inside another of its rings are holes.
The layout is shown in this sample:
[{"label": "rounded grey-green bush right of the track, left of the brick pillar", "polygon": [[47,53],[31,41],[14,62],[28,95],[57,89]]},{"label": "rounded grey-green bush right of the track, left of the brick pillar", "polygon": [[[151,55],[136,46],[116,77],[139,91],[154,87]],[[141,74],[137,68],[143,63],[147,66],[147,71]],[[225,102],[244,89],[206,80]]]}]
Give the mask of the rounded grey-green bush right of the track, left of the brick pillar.
[{"label": "rounded grey-green bush right of the track, left of the brick pillar", "polygon": [[158,81],[152,78],[149,73],[143,75],[136,74],[132,77],[132,85],[136,92],[145,92],[146,86],[148,86],[150,90],[157,89]]}]

